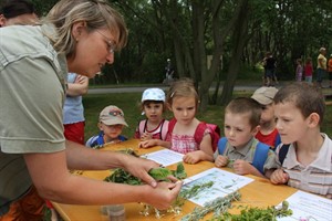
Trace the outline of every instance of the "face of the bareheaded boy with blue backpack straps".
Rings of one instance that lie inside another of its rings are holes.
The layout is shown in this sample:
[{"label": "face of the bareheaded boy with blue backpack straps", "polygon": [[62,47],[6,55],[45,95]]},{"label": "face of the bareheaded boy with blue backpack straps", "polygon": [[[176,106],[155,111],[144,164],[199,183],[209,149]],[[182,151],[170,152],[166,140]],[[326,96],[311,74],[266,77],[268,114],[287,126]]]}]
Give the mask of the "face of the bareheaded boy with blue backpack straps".
[{"label": "face of the bareheaded boy with blue backpack straps", "polygon": [[225,114],[224,133],[234,147],[243,147],[256,135],[258,127],[251,128],[248,114]]}]

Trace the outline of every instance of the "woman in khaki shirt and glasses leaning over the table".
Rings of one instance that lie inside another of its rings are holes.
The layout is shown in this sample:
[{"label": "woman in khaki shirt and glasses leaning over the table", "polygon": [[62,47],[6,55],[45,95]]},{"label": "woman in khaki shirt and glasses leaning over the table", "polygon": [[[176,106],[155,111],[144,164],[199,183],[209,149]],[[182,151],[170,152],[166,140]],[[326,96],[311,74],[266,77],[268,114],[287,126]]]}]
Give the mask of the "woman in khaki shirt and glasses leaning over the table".
[{"label": "woman in khaki shirt and glasses leaning over the table", "polygon": [[[102,0],[61,0],[43,25],[11,25],[0,30],[0,220],[41,219],[43,199],[170,206],[181,182],[156,182],[147,171],[158,164],[64,138],[65,75],[94,77],[114,62],[114,50],[127,40],[117,11]],[[116,167],[148,185],[106,183],[69,172]]]}]

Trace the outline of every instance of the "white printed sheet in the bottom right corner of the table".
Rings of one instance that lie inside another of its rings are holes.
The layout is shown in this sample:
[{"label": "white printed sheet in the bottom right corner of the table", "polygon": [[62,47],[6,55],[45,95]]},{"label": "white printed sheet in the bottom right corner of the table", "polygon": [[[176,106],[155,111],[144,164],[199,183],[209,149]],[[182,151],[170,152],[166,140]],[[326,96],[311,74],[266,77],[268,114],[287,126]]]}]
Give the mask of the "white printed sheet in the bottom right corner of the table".
[{"label": "white printed sheet in the bottom right corner of the table", "polygon": [[[278,221],[331,221],[332,200],[303,191],[297,191],[286,201],[293,211],[291,217],[279,218]],[[281,207],[281,203],[280,206]]]}]

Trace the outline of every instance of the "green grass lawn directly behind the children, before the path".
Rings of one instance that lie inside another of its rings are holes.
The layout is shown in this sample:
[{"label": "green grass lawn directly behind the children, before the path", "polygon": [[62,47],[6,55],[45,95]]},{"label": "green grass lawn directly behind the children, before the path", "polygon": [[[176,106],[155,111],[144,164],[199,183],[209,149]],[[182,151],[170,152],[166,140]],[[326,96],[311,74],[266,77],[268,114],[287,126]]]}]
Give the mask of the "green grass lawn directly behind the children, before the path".
[{"label": "green grass lawn directly behind the children, before the path", "polygon": [[[249,96],[251,92],[241,93],[238,92],[236,96]],[[85,140],[91,136],[98,134],[97,122],[100,112],[107,105],[116,105],[123,109],[125,114],[125,120],[128,127],[123,130],[123,135],[132,138],[135,133],[135,128],[144,116],[141,114],[139,101],[142,93],[118,93],[118,94],[89,94],[83,96],[84,116],[85,116]],[[207,123],[217,124],[222,128],[224,124],[224,106],[209,105],[207,112],[199,113],[197,118]],[[167,119],[172,118],[172,113],[166,112]],[[329,137],[332,137],[332,105],[326,106],[324,122],[322,125],[322,131],[326,133]],[[222,134],[222,129],[221,129]]]}]

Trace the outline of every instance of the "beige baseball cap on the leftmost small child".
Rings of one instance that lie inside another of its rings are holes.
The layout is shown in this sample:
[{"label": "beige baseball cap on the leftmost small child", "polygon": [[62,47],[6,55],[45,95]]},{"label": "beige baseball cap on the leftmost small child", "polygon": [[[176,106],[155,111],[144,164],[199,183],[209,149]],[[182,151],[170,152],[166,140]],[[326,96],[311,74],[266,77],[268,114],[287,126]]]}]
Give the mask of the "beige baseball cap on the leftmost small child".
[{"label": "beige baseball cap on the leftmost small child", "polygon": [[125,125],[128,126],[124,119],[124,113],[121,108],[114,105],[106,106],[100,114],[100,122],[105,125]]}]

